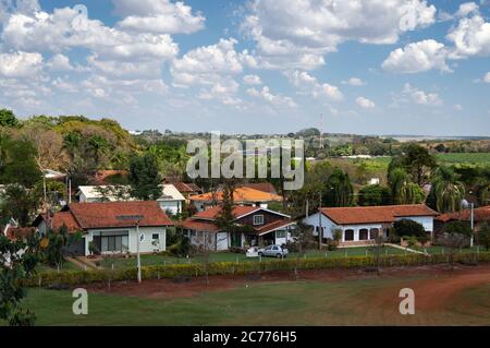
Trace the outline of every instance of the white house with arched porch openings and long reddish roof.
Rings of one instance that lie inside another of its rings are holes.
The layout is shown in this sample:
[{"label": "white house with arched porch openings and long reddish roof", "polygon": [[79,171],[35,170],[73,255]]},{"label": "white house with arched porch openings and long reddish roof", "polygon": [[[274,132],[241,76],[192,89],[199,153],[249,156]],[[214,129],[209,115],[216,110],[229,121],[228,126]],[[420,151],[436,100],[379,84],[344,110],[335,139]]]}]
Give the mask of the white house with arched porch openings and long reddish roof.
[{"label": "white house with arched porch openings and long reddish roof", "polygon": [[333,239],[334,230],[342,231],[341,243],[366,244],[378,232],[388,237],[388,230],[400,219],[411,219],[433,232],[433,218],[439,215],[425,204],[355,206],[320,208],[320,213],[306,217],[303,221],[314,227],[314,233],[321,231],[323,239]]}]

